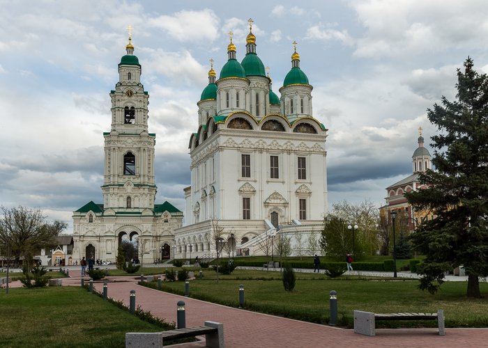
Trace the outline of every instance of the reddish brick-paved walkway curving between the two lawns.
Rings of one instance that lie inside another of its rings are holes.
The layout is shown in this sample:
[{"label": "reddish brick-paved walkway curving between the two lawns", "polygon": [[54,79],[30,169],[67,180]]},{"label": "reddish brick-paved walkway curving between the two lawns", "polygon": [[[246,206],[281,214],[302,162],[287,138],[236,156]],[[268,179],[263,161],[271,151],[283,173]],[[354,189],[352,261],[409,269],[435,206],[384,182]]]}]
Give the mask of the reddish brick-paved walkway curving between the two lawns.
[{"label": "reddish brick-paved walkway curving between the two lawns", "polygon": [[[79,271],[70,271],[77,278],[63,279],[63,285],[79,285]],[[108,296],[129,303],[130,290],[136,291],[136,306],[156,317],[176,322],[176,303],[186,303],[186,325],[199,326],[206,320],[224,324],[227,348],[309,348],[309,347],[483,347],[488,329],[446,329],[439,336],[437,329],[378,329],[376,336],[353,333],[351,329],[300,322],[298,320],[254,313],[184,296],[160,292],[137,285],[136,277],[126,282],[108,284]],[[102,291],[102,283],[94,287]],[[205,347],[204,342],[186,343],[178,348]]]}]

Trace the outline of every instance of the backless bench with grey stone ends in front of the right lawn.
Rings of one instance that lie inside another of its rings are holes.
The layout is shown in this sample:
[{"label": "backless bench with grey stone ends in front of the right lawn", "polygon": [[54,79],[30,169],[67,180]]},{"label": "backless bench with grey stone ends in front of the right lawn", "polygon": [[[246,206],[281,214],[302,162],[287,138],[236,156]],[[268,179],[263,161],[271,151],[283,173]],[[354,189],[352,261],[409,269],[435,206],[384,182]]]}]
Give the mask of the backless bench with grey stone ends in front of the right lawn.
[{"label": "backless bench with grey stone ends in front of the right lawn", "polygon": [[371,313],[354,310],[354,332],[362,335],[374,336],[376,320],[436,320],[439,326],[439,335],[445,335],[444,311],[437,313]]}]

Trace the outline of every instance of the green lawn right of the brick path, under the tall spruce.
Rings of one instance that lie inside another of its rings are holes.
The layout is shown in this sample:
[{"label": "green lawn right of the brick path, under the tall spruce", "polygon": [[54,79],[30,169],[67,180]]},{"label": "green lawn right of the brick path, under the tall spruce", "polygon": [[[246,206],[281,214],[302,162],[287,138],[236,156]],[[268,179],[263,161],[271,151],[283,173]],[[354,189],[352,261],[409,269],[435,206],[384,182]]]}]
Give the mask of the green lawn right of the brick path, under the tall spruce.
[{"label": "green lawn right of the brick path, under the tall spruce", "polygon": [[[228,306],[238,306],[239,285],[245,286],[245,308],[310,322],[326,324],[329,292],[337,291],[340,324],[353,325],[353,310],[374,313],[436,313],[443,309],[447,327],[488,327],[488,299],[468,299],[466,283],[444,283],[436,295],[418,290],[418,280],[297,274],[293,292],[285,292],[279,272],[236,270],[215,280],[215,271],[206,270],[204,279],[190,282],[190,296]],[[156,286],[157,283],[153,283]],[[488,294],[488,284],[480,285]],[[163,283],[163,290],[183,294],[184,282]],[[385,323],[395,327],[397,322]],[[400,324],[418,325],[415,322]],[[421,322],[435,326],[435,322]]]}]

